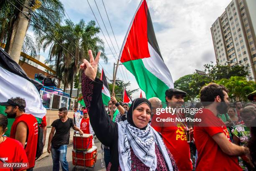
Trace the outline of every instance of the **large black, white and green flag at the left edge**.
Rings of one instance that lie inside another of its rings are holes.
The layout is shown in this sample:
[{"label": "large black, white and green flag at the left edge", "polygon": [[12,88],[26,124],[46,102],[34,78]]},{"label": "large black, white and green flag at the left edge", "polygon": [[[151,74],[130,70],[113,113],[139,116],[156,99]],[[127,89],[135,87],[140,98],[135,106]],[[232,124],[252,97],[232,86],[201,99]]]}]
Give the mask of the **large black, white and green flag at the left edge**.
[{"label": "large black, white and green flag at the left edge", "polygon": [[[39,123],[46,115],[39,90],[43,84],[28,78],[23,69],[10,56],[0,48],[0,102],[7,102],[11,97],[21,97],[26,100],[26,113],[36,117]],[[5,107],[0,106],[0,114],[4,114]],[[14,119],[8,119],[8,131],[10,135],[11,125]]]}]

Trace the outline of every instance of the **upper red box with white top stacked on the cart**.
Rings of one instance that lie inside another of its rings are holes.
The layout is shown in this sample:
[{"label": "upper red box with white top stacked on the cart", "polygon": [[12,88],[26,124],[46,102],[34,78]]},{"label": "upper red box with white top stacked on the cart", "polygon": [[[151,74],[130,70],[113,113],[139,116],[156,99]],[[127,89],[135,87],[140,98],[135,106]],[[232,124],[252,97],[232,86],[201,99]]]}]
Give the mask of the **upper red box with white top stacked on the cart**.
[{"label": "upper red box with white top stacked on the cart", "polygon": [[73,136],[73,148],[76,150],[88,150],[92,148],[92,134],[75,134]]}]

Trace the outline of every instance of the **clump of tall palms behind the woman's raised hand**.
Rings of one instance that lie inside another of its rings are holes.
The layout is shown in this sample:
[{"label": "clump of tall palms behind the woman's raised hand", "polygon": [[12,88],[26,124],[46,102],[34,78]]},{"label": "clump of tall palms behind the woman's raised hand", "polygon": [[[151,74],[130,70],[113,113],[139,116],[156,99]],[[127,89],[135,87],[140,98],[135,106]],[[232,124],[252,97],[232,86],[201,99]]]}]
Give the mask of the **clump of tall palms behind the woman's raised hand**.
[{"label": "clump of tall palms behind the woman's raised hand", "polygon": [[[102,51],[101,58],[108,62],[104,53],[104,43],[97,36],[100,28],[95,26],[94,21],[85,23],[80,20],[74,24],[71,20],[65,20],[65,26],[56,26],[49,29],[50,34],[42,36],[38,41],[45,51],[50,47],[49,62],[53,62],[58,78],[64,82],[64,89],[70,85],[70,95],[72,95],[74,85],[74,75],[79,72],[79,83],[81,82],[81,73],[79,71],[78,61],[89,59],[87,51],[92,49],[94,53]],[[79,94],[79,89],[78,93]]]}]

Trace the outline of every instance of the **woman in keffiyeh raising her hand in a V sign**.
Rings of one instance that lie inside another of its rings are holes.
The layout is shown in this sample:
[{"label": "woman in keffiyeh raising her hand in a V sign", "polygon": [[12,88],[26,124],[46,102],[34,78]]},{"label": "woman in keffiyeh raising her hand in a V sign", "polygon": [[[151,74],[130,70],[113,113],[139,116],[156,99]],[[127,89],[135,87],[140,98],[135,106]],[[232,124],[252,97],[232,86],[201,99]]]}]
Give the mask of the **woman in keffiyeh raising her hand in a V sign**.
[{"label": "woman in keffiyeh raising her hand in a V sign", "polygon": [[80,65],[84,70],[82,94],[95,135],[110,147],[107,171],[177,171],[161,135],[148,125],[151,114],[148,100],[135,99],[127,112],[127,120],[119,123],[110,120],[102,103],[103,83],[96,78],[100,52],[95,60],[92,51],[88,53],[90,62],[84,59]]}]

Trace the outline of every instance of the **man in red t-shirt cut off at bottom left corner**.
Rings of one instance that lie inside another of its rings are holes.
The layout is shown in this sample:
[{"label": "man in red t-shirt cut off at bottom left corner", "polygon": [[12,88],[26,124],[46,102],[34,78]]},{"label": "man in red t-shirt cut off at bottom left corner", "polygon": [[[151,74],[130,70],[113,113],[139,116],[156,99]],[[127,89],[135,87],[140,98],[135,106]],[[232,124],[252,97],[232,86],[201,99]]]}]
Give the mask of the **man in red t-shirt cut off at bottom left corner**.
[{"label": "man in red t-shirt cut off at bottom left corner", "polygon": [[3,168],[1,171],[23,171],[28,168],[28,158],[22,144],[13,138],[4,137],[8,124],[5,115],[0,114],[0,166],[3,163],[24,163],[20,168]]}]

